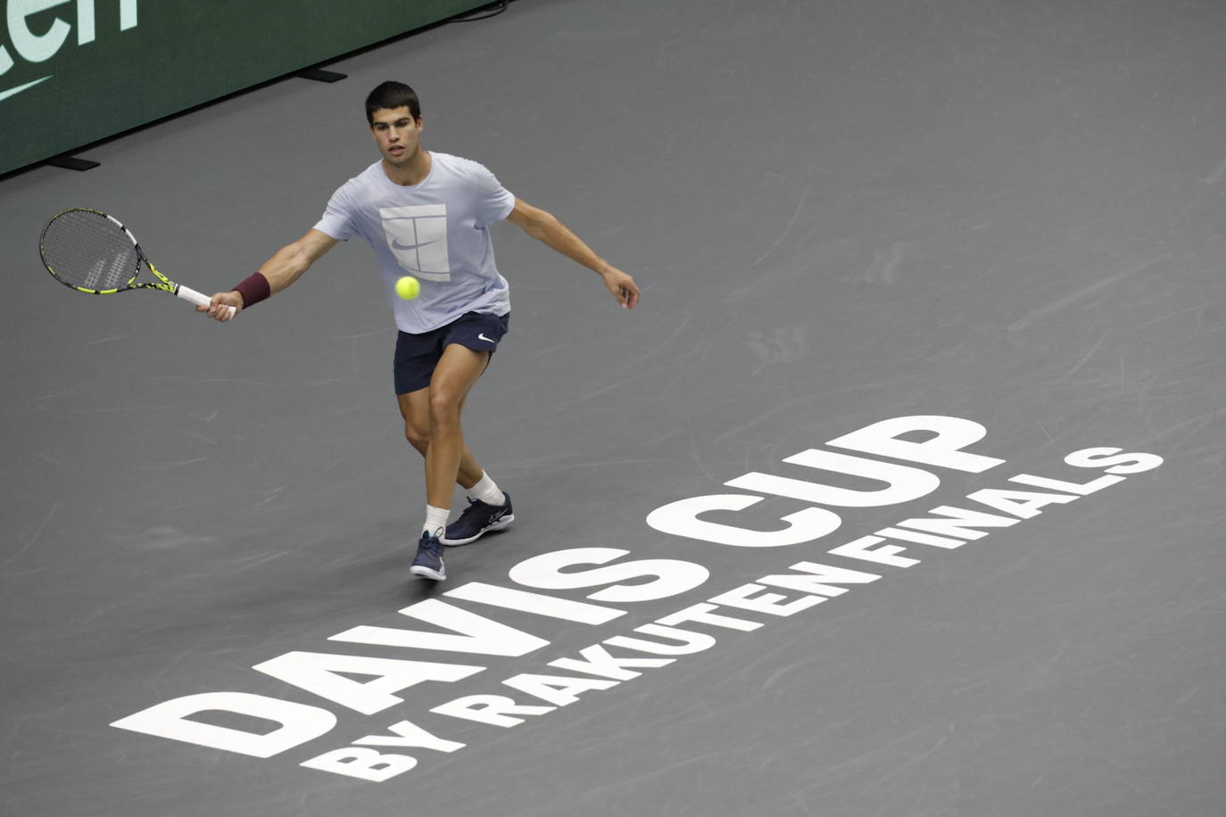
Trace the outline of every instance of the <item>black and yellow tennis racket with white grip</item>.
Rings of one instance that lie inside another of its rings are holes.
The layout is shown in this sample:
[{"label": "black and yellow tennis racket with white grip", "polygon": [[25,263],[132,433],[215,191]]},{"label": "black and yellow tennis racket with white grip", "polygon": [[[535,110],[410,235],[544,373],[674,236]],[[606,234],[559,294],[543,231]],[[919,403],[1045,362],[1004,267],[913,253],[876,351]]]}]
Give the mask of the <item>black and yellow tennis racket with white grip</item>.
[{"label": "black and yellow tennis racket with white grip", "polygon": [[[43,228],[38,254],[56,280],[78,293],[110,295],[129,289],[157,289],[196,306],[208,306],[212,301],[208,295],[158,272],[136,236],[118,218],[96,209],[56,213]],[[154,280],[136,280],[141,269],[148,269]],[[227,309],[233,317],[234,307]]]}]

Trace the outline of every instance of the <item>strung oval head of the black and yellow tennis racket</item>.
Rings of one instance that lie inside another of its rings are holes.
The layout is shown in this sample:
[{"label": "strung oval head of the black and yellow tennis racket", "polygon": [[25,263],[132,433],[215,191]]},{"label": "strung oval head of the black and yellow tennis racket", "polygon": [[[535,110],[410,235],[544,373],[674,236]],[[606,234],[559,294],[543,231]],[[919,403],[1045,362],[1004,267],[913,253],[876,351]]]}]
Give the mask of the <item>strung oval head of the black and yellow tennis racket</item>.
[{"label": "strung oval head of the black and yellow tennis racket", "polygon": [[141,257],[128,233],[102,213],[69,211],[43,232],[43,261],[71,287],[107,292],[136,277]]}]

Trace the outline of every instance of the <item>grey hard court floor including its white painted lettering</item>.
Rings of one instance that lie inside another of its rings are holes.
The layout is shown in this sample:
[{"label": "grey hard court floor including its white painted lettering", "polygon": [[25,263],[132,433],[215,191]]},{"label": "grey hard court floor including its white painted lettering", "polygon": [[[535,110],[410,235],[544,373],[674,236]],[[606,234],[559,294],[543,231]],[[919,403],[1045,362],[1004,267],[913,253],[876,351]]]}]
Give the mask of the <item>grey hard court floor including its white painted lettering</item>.
[{"label": "grey hard court floor including its white painted lettering", "polygon": [[[4,180],[0,812],[1226,813],[1224,34],[521,0]],[[368,247],[226,326],[37,255],[97,207],[228,288],[385,78],[644,287],[495,228],[519,521],[439,587]]]}]

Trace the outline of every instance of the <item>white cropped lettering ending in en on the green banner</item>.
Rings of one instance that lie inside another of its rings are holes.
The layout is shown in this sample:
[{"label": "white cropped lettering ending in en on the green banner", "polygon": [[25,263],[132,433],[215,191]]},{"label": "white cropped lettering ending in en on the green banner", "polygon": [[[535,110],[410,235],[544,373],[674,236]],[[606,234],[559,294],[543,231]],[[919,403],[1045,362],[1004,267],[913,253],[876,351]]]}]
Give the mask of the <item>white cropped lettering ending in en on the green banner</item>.
[{"label": "white cropped lettering ending in en on the green banner", "polygon": [[[119,0],[119,31],[136,28],[136,2],[137,0]],[[47,62],[60,53],[74,29],[76,31],[77,45],[87,45],[97,39],[96,0],[76,0],[72,4],[76,7],[72,22],[55,16],[48,26],[47,16],[40,12],[58,5],[66,5],[66,0],[9,0],[5,9],[5,23],[12,50],[10,51],[9,47],[0,44],[0,77],[11,71],[17,65],[18,59],[33,64]],[[37,20],[32,21],[34,17]],[[47,82],[54,76],[54,73],[48,73],[11,87],[2,87],[7,83],[0,80],[0,102]]]}]

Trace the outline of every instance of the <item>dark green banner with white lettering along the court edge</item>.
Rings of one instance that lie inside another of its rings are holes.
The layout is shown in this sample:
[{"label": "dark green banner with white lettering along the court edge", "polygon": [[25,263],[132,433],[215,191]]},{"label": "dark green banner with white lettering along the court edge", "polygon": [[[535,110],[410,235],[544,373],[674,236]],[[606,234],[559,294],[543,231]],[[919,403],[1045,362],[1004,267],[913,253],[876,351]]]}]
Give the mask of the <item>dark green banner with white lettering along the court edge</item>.
[{"label": "dark green banner with white lettering along the court edge", "polygon": [[[485,0],[488,1],[488,0]],[[482,0],[0,0],[0,174]]]}]

